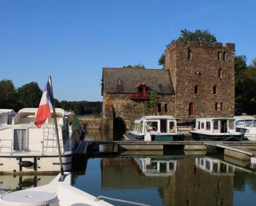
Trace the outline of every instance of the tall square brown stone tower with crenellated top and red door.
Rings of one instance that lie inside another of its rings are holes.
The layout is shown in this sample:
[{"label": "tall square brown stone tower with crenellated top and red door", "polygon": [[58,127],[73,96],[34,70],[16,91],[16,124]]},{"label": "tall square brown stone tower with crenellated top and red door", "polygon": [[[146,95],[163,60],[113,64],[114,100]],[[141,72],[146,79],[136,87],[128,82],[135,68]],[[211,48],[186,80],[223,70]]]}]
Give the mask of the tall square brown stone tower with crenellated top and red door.
[{"label": "tall square brown stone tower with crenellated top and red door", "polygon": [[234,115],[235,44],[175,41],[165,50],[175,90],[175,116]]}]

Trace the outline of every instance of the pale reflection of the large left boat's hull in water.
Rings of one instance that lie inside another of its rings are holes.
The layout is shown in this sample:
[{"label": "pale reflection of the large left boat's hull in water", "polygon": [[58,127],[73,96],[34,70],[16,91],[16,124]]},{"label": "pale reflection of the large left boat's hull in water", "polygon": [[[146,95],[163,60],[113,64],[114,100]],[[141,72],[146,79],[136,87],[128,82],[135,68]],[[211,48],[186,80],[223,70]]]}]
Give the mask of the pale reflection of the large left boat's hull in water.
[{"label": "pale reflection of the large left boat's hull in water", "polygon": [[52,175],[11,175],[0,176],[0,189],[24,190],[26,188],[41,186],[51,182],[56,174]]}]

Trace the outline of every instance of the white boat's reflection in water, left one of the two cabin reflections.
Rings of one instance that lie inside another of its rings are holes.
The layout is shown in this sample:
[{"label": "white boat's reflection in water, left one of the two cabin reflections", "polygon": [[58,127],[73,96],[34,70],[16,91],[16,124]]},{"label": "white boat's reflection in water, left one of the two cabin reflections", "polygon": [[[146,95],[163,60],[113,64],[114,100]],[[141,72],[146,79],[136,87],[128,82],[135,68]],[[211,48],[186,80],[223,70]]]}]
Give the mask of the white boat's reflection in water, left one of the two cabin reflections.
[{"label": "white boat's reflection in water, left one of the two cabin reflections", "polygon": [[145,176],[171,176],[176,171],[177,160],[157,160],[156,158],[134,159]]}]

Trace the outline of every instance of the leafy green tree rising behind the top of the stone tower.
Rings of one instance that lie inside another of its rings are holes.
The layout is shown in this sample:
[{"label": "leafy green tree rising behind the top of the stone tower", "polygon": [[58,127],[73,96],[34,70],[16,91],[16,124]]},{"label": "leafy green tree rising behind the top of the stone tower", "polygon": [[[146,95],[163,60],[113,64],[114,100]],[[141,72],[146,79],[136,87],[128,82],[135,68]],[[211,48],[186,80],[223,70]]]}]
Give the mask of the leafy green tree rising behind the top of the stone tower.
[{"label": "leafy green tree rising behind the top of the stone tower", "polygon": [[[209,32],[209,30],[201,30],[201,29],[196,29],[194,32],[189,31],[187,29],[180,30],[180,37],[177,39],[178,41],[195,41],[195,42],[211,42],[214,43],[216,42],[216,37],[214,34]],[[175,40],[172,40],[170,44],[166,45],[167,47],[171,45]],[[161,57],[158,59],[158,65],[162,65],[164,68],[164,54],[161,55]]]}]

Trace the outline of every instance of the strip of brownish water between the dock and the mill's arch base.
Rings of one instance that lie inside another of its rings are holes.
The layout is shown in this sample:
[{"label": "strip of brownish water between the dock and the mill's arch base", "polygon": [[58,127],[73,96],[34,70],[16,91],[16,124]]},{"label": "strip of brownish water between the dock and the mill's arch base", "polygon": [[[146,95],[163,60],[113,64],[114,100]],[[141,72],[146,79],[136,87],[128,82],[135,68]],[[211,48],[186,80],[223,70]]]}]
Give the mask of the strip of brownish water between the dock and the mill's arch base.
[{"label": "strip of brownish water between the dock and the mill's arch base", "polygon": [[98,141],[118,141],[123,140],[125,131],[122,130],[98,130],[88,129],[86,130],[85,140],[98,140]]}]

